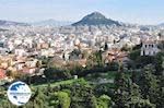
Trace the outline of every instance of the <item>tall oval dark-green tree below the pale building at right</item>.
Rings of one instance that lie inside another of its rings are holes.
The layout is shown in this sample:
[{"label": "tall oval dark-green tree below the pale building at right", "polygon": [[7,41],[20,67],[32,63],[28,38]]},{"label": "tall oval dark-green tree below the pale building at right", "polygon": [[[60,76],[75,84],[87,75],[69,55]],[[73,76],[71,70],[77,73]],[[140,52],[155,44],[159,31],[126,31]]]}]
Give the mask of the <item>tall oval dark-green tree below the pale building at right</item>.
[{"label": "tall oval dark-green tree below the pale building at right", "polygon": [[139,80],[139,85],[141,88],[141,94],[144,99],[150,99],[151,103],[157,104],[159,100],[159,80],[152,73],[154,73],[154,68],[152,65],[147,65]]}]

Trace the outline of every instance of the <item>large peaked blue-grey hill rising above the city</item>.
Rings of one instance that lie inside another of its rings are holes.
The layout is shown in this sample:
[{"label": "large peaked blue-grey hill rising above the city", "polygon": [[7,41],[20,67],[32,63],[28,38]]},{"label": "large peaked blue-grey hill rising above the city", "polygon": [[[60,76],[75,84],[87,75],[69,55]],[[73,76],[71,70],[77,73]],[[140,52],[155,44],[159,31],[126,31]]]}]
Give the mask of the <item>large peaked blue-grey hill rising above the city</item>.
[{"label": "large peaked blue-grey hill rising above the city", "polygon": [[72,26],[79,25],[117,25],[120,26],[121,24],[117,21],[113,21],[110,19],[105,17],[99,12],[93,12],[86,16],[84,16],[81,21],[73,23]]}]

